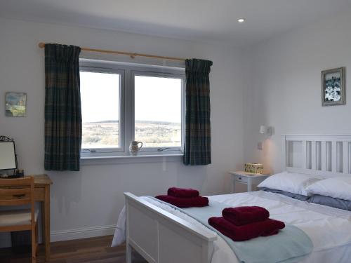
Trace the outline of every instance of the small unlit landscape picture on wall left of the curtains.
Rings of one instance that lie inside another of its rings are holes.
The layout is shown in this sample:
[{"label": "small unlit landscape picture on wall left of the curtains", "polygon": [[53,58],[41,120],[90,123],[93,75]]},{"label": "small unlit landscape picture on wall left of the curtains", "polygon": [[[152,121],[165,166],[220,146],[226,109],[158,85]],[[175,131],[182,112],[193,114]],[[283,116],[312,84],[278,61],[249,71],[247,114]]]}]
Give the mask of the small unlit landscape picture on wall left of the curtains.
[{"label": "small unlit landscape picture on wall left of the curtains", "polygon": [[27,115],[27,93],[7,92],[5,95],[5,116],[25,117]]}]

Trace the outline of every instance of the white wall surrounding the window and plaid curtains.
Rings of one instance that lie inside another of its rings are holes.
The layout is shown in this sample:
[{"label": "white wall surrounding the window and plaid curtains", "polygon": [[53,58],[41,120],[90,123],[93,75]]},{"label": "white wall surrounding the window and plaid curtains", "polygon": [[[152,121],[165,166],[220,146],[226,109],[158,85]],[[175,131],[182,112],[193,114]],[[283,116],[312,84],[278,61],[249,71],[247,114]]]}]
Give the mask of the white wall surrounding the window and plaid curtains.
[{"label": "white wall surrounding the window and plaid curtains", "polygon": [[[26,174],[45,173],[44,50],[38,48],[39,41],[213,60],[212,164],[187,167],[181,161],[110,163],[84,165],[78,173],[47,172],[53,180],[53,240],[110,233],[124,205],[124,191],[156,195],[173,185],[194,187],[201,194],[230,191],[227,171],[241,168],[243,163],[244,95],[239,51],[155,36],[18,20],[0,20],[0,36],[0,134],[15,139],[19,165]],[[5,116],[6,91],[27,93],[27,117]],[[72,229],[76,229],[73,234]]]}]

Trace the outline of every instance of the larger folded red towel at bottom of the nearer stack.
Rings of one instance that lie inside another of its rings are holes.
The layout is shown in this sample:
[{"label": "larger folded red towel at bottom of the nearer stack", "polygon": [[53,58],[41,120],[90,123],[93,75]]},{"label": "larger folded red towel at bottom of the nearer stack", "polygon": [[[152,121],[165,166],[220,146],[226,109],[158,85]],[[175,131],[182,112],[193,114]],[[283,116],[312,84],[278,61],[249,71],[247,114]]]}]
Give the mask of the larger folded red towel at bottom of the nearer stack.
[{"label": "larger folded red towel at bottom of the nearer stack", "polygon": [[284,222],[270,218],[238,227],[223,217],[210,217],[208,224],[223,235],[232,238],[233,241],[246,241],[251,238],[257,238],[258,236],[272,236],[278,234],[278,231],[285,227]]}]

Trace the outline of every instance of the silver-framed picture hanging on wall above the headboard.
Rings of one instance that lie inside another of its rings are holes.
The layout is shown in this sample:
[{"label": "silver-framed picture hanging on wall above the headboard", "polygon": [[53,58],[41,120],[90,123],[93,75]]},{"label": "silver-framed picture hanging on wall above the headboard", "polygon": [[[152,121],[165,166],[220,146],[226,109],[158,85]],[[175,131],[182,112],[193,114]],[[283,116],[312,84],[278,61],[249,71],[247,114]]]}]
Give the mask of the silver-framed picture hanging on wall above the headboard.
[{"label": "silver-framed picture hanging on wall above the headboard", "polygon": [[322,106],[345,104],[345,67],[322,71]]}]

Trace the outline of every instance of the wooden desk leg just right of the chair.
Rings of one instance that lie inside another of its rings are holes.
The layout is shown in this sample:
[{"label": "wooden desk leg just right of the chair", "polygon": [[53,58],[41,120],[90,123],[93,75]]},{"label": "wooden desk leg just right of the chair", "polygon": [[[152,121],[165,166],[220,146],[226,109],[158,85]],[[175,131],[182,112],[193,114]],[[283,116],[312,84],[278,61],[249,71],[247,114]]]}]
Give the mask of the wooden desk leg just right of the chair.
[{"label": "wooden desk leg just right of the chair", "polygon": [[43,223],[43,239],[45,244],[45,260],[50,260],[50,187],[45,187],[44,202],[41,202],[41,220]]}]

